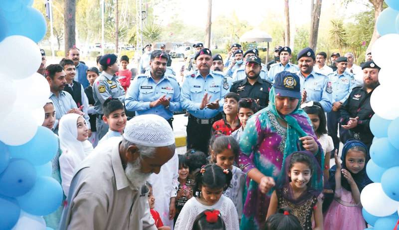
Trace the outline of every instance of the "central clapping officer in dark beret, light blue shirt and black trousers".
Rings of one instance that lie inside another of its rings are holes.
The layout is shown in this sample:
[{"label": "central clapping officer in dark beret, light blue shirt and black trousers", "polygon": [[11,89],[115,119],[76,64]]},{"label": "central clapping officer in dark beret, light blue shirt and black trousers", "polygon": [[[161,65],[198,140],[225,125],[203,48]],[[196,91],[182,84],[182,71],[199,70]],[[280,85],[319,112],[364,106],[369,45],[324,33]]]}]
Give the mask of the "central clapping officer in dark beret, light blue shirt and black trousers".
[{"label": "central clapping officer in dark beret, light blue shirt and black trousers", "polygon": [[213,122],[222,118],[224,95],[230,85],[226,78],[210,70],[212,54],[202,49],[195,57],[198,71],[185,77],[182,86],[182,108],[189,111],[187,148],[208,152]]}]

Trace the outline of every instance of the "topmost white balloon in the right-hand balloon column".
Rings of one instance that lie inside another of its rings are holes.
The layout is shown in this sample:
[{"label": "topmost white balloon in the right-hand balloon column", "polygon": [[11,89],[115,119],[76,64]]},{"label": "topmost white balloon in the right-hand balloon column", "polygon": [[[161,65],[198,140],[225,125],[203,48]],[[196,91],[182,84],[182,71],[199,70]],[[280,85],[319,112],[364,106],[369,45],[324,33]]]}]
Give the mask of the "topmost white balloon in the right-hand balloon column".
[{"label": "topmost white balloon in the right-hand balloon column", "polygon": [[386,34],[377,39],[372,48],[373,61],[381,68],[395,66],[397,61],[390,55],[399,53],[399,34]]}]

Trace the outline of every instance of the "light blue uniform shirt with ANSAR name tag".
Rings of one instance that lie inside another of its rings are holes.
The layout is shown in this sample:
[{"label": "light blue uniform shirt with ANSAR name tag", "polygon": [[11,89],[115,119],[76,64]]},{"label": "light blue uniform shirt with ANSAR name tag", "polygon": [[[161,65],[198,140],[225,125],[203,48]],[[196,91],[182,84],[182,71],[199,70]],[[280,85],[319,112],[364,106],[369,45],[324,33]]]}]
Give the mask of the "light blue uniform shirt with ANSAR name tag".
[{"label": "light blue uniform shirt with ANSAR name tag", "polygon": [[[150,103],[163,95],[171,98],[169,109],[163,105],[150,108]],[[129,111],[136,111],[136,115],[156,114],[169,120],[173,117],[174,111],[182,110],[179,83],[171,76],[164,75],[157,83],[151,77],[151,72],[139,75],[128,88],[125,106]]]}]

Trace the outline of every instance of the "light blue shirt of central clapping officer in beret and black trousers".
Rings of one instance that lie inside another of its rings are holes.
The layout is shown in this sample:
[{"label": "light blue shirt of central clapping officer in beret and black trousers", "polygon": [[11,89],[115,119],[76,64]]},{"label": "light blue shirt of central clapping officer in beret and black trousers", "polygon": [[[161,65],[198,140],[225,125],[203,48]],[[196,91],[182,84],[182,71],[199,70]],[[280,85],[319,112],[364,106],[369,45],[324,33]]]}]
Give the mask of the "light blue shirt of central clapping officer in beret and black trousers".
[{"label": "light blue shirt of central clapping officer in beret and black trousers", "polygon": [[[229,91],[230,85],[227,78],[219,73],[210,71],[205,78],[199,72],[186,76],[182,86],[182,108],[200,119],[210,119],[223,111],[224,96]],[[207,107],[200,109],[205,93],[208,93],[208,97],[211,96],[209,102],[219,99],[218,109],[208,109]]]}]

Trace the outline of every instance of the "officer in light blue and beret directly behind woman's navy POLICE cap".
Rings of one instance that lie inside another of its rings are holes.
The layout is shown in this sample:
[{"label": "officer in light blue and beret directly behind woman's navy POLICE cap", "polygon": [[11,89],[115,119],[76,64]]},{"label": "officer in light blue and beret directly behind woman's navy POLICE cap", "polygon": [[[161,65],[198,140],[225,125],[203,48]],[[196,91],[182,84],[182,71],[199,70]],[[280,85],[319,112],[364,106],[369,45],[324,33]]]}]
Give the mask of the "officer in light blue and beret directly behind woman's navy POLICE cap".
[{"label": "officer in light blue and beret directly behind woman's navy POLICE cap", "polygon": [[284,46],[278,51],[280,56],[280,63],[275,63],[270,66],[268,73],[268,80],[274,82],[274,77],[281,71],[288,71],[291,73],[297,73],[299,68],[297,65],[290,63],[291,59],[291,49],[288,46]]}]

